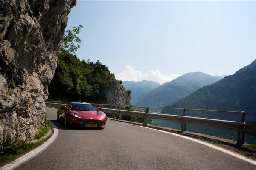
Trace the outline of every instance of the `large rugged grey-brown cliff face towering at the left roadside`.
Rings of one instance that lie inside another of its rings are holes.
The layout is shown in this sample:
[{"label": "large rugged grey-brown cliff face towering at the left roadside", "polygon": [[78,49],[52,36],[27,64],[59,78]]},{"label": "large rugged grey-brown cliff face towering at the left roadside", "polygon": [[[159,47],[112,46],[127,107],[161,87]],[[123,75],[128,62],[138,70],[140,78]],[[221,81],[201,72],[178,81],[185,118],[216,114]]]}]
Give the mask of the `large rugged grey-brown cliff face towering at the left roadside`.
[{"label": "large rugged grey-brown cliff face towering at the left roadside", "polygon": [[9,142],[33,139],[44,125],[47,87],[75,4],[0,1],[0,151]]}]

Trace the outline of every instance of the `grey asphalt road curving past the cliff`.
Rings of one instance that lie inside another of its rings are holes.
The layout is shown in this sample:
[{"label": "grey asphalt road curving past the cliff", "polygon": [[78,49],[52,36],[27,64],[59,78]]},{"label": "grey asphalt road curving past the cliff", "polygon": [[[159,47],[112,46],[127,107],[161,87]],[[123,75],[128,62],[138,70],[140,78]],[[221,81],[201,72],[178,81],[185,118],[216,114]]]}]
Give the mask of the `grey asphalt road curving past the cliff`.
[{"label": "grey asphalt road curving past the cliff", "polygon": [[16,169],[256,169],[256,166],[206,145],[161,131],[114,120],[105,129],[59,129],[46,150]]}]

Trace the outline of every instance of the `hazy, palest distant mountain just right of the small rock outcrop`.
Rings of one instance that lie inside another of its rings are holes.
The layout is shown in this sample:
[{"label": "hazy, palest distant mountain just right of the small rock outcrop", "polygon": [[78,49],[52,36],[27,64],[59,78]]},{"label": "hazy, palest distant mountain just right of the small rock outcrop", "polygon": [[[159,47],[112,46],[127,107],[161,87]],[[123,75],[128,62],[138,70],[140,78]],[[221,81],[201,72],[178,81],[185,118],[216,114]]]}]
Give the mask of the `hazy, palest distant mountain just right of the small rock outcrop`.
[{"label": "hazy, palest distant mountain just right of the small rock outcrop", "polygon": [[146,94],[149,91],[160,86],[157,82],[143,80],[141,82],[123,81],[122,85],[126,90],[131,90],[131,105],[134,105],[134,101],[141,95]]}]

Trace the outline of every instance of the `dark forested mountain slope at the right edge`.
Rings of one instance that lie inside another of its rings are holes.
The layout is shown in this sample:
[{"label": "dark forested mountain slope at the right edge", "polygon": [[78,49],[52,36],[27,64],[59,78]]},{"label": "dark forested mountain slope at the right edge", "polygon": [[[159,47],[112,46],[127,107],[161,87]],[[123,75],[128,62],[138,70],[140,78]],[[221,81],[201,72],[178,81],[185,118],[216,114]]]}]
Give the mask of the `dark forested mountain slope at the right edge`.
[{"label": "dark forested mountain slope at the right edge", "polygon": [[198,89],[167,108],[246,111],[256,119],[256,60],[235,74]]}]

